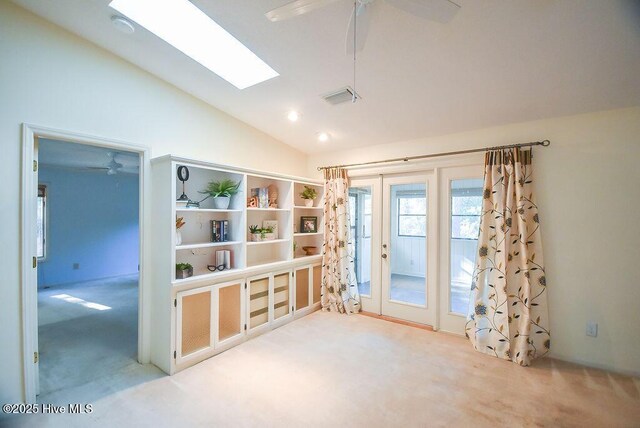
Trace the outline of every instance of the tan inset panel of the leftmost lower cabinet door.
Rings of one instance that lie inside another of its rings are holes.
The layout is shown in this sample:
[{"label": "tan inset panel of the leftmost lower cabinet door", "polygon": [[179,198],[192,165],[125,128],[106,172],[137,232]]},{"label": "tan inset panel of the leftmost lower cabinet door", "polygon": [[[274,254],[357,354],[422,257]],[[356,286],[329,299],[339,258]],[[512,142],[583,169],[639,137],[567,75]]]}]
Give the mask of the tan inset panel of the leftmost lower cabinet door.
[{"label": "tan inset panel of the leftmost lower cabinet door", "polygon": [[182,356],[211,346],[211,291],[184,296]]}]

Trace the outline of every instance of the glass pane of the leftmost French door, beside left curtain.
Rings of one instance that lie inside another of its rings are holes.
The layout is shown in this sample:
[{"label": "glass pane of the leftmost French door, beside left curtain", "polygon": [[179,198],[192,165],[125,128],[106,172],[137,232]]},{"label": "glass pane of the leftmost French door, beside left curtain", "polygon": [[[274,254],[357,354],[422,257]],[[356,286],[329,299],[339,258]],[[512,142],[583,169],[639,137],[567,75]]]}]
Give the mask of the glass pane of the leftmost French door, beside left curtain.
[{"label": "glass pane of the leftmost French door, beside left curtain", "polygon": [[349,188],[351,239],[358,291],[371,296],[371,186]]}]

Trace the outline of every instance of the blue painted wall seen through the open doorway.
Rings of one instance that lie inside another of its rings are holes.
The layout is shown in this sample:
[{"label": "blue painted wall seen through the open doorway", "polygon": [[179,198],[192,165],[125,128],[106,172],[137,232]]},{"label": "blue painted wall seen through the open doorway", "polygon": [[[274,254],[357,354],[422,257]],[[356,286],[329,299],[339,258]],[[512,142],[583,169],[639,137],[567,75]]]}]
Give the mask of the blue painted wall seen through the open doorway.
[{"label": "blue painted wall seen through the open doorway", "polygon": [[47,185],[49,215],[38,287],[138,272],[137,175],[43,165],[38,181]]}]

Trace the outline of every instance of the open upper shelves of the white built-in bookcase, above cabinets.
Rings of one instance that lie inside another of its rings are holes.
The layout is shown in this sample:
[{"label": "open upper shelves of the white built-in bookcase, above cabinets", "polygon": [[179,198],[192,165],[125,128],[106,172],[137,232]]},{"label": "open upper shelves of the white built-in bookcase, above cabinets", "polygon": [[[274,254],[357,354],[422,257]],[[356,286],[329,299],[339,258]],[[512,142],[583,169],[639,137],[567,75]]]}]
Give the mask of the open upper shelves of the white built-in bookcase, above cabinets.
[{"label": "open upper shelves of the white built-in bookcase, above cabinets", "polygon": [[[185,208],[175,201],[183,191],[182,182],[178,179],[177,168],[186,166],[189,179],[185,182],[185,193],[191,200],[200,201],[206,195],[200,193],[210,181],[231,179],[240,183],[240,191],[231,198],[229,209],[213,208],[213,199],[205,199],[200,208]],[[173,237],[174,260],[176,263],[189,263],[193,266],[193,276],[184,279],[172,279],[174,285],[193,282],[201,279],[227,275],[228,270],[242,270],[260,267],[295,258],[307,257],[303,247],[315,247],[314,255],[319,255],[322,247],[322,185],[310,181],[284,179],[249,172],[235,172],[220,167],[189,162],[172,162],[175,184],[173,192],[173,216],[182,217],[184,226],[179,229],[182,242],[177,245],[177,237]],[[306,207],[300,193],[304,186],[314,187],[318,198],[313,207]],[[269,208],[248,207],[247,199],[251,189],[267,188],[277,192],[277,206]],[[316,219],[315,232],[304,233],[301,230],[302,217]],[[211,242],[211,220],[227,220],[229,224],[229,240]],[[262,227],[266,221],[277,221],[278,233],[275,239],[252,242],[249,228],[252,225]],[[211,272],[208,265],[215,264],[217,251],[231,252],[231,266],[223,271]]]}]

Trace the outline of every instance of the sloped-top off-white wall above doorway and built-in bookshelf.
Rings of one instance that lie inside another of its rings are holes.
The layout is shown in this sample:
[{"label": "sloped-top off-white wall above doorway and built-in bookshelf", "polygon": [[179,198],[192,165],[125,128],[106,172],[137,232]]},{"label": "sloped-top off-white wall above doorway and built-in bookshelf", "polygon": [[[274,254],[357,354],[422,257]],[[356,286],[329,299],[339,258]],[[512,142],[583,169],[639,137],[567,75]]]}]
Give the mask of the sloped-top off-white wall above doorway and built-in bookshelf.
[{"label": "sloped-top off-white wall above doorway and built-in bookshelf", "polygon": [[22,399],[19,290],[23,122],[304,175],[306,156],[114,55],[0,1],[0,402]]}]

